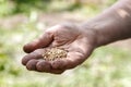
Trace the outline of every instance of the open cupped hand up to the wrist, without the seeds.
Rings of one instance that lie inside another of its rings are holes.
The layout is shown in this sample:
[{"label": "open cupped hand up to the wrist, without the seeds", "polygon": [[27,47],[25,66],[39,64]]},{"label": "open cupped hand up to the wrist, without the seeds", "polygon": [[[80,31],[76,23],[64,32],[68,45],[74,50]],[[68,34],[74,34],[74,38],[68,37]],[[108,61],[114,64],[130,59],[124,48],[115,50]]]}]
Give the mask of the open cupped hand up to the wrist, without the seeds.
[{"label": "open cupped hand up to the wrist, without the seeds", "polygon": [[[73,24],[57,25],[47,29],[41,37],[24,46],[28,54],[22,59],[29,71],[61,74],[84,62],[95,48],[96,37],[93,29],[85,29]],[[59,47],[68,50],[66,59],[43,60],[47,48]]]}]

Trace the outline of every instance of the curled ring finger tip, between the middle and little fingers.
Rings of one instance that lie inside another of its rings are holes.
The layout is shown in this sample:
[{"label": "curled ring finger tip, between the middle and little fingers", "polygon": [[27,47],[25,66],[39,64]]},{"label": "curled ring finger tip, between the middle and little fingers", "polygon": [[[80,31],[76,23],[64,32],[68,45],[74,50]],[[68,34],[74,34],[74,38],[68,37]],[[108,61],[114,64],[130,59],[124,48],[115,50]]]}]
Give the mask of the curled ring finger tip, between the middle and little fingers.
[{"label": "curled ring finger tip, between the middle and little fingers", "polygon": [[36,69],[38,72],[49,73],[51,71],[51,65],[48,61],[41,60],[36,64]]}]

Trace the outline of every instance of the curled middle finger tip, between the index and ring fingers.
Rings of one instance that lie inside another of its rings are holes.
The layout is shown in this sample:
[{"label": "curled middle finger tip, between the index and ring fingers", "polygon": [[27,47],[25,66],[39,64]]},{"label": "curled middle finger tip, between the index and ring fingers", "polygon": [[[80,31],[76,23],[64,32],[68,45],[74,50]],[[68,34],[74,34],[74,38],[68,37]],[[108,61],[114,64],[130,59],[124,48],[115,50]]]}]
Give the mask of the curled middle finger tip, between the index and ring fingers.
[{"label": "curled middle finger tip, between the index and ring fingers", "polygon": [[36,64],[37,64],[38,60],[29,60],[26,64],[26,69],[29,71],[35,71],[36,70]]}]

